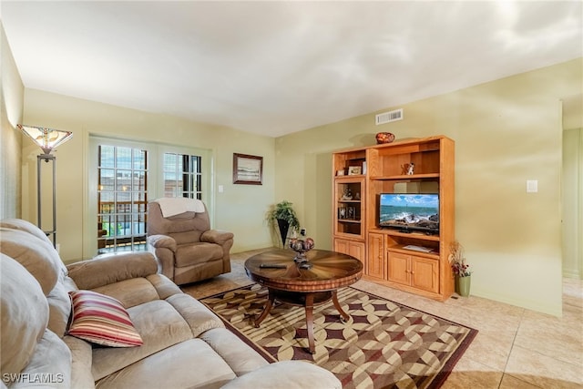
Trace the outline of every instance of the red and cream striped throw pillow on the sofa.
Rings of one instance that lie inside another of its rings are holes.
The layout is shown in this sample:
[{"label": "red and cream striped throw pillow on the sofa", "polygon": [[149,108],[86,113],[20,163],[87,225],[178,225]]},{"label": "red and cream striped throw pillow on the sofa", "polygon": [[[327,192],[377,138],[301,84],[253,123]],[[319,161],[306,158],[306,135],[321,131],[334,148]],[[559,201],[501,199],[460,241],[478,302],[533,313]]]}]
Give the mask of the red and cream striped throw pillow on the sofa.
[{"label": "red and cream striped throw pillow on the sofa", "polygon": [[110,347],[133,347],[143,343],[121,302],[91,291],[69,292],[73,319],[68,334]]}]

